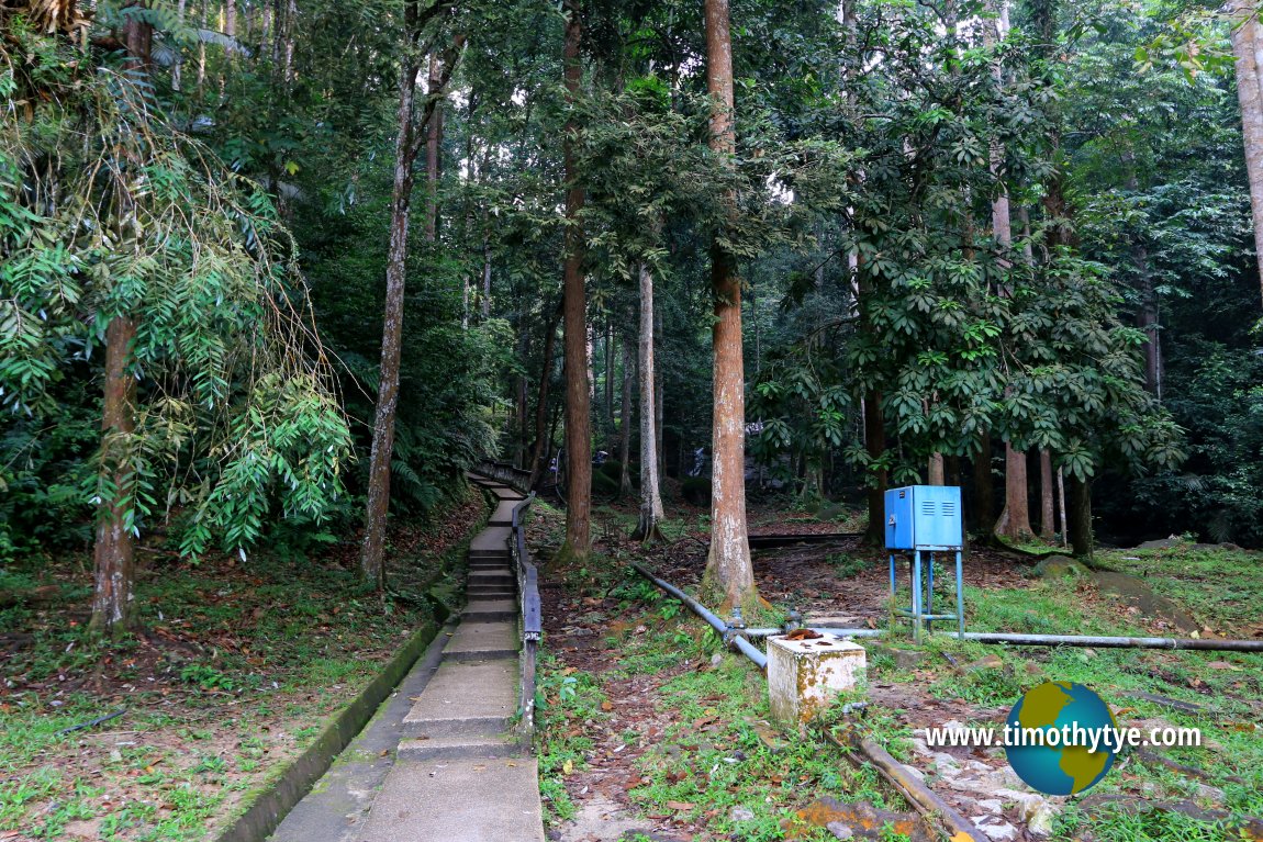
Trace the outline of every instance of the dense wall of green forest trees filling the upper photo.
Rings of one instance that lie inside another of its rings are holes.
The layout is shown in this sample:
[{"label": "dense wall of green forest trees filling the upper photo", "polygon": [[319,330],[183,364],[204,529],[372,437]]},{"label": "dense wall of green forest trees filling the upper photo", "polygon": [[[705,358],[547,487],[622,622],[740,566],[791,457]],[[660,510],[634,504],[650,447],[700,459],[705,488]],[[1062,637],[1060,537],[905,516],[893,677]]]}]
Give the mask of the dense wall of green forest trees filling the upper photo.
[{"label": "dense wall of green forest trees filling the upper photo", "polygon": [[9,0],[0,559],[93,542],[105,626],[135,542],[380,588],[491,458],[578,555],[710,506],[730,600],[748,494],[1260,545],[1257,14]]}]

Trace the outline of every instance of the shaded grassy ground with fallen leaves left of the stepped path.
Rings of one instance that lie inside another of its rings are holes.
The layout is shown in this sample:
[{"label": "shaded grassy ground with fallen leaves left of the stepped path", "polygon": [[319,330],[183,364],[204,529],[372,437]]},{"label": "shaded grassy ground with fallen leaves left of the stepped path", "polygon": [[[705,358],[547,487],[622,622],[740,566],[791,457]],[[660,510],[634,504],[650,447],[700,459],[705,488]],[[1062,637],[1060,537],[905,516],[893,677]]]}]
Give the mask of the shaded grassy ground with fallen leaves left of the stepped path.
[{"label": "shaded grassy ground with fallen leaves left of the stepped path", "polygon": [[140,630],[111,648],[85,631],[90,555],[6,571],[56,596],[0,611],[0,841],[203,838],[434,622],[423,591],[485,519],[470,492],[394,526],[386,612],[354,537],[309,558],[144,553]]}]

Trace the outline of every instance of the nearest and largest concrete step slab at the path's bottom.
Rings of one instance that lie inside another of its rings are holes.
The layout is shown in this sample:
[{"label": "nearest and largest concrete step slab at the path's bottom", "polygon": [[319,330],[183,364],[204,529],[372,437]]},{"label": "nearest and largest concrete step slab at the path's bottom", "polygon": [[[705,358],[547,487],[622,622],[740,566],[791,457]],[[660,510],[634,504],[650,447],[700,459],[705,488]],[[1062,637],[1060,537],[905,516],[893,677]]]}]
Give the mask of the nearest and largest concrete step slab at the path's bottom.
[{"label": "nearest and largest concrete step slab at the path's bottom", "polygon": [[400,760],[356,842],[544,842],[534,759]]}]

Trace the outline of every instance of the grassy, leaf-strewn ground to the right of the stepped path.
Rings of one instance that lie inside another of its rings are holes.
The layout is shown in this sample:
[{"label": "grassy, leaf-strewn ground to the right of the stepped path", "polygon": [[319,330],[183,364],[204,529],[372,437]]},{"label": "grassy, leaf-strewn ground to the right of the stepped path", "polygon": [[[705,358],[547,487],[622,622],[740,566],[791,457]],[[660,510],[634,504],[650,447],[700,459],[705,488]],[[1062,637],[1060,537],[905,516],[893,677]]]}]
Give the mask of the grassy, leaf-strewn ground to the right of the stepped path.
[{"label": "grassy, leaf-strewn ground to the right of the stepped path", "polygon": [[[774,507],[754,507],[751,533],[849,531],[836,526],[845,520],[805,513],[778,520]],[[539,747],[552,838],[921,838],[916,827],[901,824],[907,804],[871,771],[846,762],[818,735],[772,727],[762,677],[721,653],[676,601],[628,573],[626,562],[643,559],[669,582],[695,588],[706,559],[703,515],[691,511],[668,524],[671,543],[649,550],[625,539],[634,511],[605,506],[595,523],[589,564],[546,567],[543,577],[548,707]],[[532,540],[541,559],[560,543],[561,524],[560,513],[537,514]],[[1007,553],[971,553],[969,627],[1263,636],[1250,612],[1263,600],[1263,554],[1167,544],[1105,552],[1096,559],[1103,571],[1060,577],[1037,576]],[[811,622],[889,624],[885,557],[853,539],[755,552],[754,563],[773,619],[799,607]],[[937,584],[946,601],[951,577]],[[1004,648],[945,637],[913,646],[906,634],[885,645],[861,643],[877,704],[849,727],[873,733],[993,838],[1263,838],[1263,656]],[[1092,687],[1120,725],[1199,727],[1204,744],[1122,755],[1100,784],[1066,799],[1036,797],[1002,750],[932,750],[917,738],[923,727],[1003,725],[1018,697],[1046,680]],[[826,727],[837,725],[826,720]]]}]

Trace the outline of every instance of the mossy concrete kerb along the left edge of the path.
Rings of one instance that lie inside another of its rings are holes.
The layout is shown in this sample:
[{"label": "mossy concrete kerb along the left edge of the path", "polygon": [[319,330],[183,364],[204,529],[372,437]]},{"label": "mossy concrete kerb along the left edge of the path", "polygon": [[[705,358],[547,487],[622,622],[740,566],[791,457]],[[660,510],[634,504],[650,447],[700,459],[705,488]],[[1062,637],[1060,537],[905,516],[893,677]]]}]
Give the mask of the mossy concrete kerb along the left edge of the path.
[{"label": "mossy concrete kerb along the left edge of the path", "polygon": [[392,691],[408,674],[412,665],[426,651],[426,646],[438,634],[440,626],[418,630],[408,643],[369,682],[360,693],[325,723],[314,742],[288,765],[259,793],[255,799],[224,831],[212,837],[213,842],[261,842],[277,829],[294,804],[311,792],[337,755],[350,745]]}]

